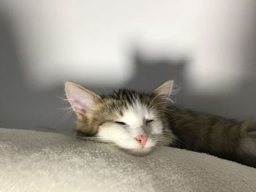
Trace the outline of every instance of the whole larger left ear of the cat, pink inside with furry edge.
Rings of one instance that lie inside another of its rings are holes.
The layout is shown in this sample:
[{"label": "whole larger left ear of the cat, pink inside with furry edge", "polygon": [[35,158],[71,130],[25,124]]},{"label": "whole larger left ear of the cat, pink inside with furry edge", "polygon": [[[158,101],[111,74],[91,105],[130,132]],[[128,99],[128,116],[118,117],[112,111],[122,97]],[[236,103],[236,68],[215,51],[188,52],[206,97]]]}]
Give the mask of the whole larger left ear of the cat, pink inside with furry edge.
[{"label": "whole larger left ear of the cat, pink inside with furry edge", "polygon": [[67,100],[78,119],[83,119],[86,112],[89,112],[94,104],[101,101],[100,96],[74,82],[65,82],[65,91]]}]

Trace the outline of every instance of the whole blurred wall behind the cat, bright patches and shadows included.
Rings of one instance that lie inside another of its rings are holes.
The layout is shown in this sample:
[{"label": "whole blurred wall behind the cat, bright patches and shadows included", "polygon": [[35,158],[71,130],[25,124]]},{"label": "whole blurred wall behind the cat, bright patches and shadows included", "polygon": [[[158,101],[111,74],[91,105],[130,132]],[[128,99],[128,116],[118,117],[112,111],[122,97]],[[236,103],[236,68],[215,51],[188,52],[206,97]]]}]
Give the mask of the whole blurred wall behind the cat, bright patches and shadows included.
[{"label": "whole blurred wall behind the cat, bright patches and shadows included", "polygon": [[67,80],[256,118],[255,72],[255,0],[0,0],[0,127],[71,130]]}]

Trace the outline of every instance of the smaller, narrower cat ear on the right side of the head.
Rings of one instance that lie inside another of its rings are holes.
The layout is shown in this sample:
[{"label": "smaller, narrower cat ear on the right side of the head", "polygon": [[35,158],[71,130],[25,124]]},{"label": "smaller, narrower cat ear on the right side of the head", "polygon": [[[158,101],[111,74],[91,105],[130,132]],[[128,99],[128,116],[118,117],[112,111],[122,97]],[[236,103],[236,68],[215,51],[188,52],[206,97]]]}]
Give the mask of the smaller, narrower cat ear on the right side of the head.
[{"label": "smaller, narrower cat ear on the right side of the head", "polygon": [[161,100],[162,102],[167,102],[170,100],[170,93],[172,93],[173,90],[173,80],[168,80],[167,82],[164,82],[162,85],[160,85],[158,88],[156,88],[151,95]]}]

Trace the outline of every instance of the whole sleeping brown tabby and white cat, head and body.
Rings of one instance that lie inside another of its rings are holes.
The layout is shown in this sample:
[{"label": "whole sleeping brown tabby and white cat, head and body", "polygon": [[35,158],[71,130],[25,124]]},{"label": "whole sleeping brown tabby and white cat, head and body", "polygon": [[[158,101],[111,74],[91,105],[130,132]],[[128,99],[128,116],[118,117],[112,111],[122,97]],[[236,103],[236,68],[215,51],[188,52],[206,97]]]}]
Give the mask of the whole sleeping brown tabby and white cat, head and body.
[{"label": "whole sleeping brown tabby and white cat, head and body", "polygon": [[65,83],[78,134],[109,142],[127,153],[144,155],[167,145],[256,167],[256,122],[236,121],[170,105],[173,81],[152,93],[129,90],[99,96],[73,82]]}]

